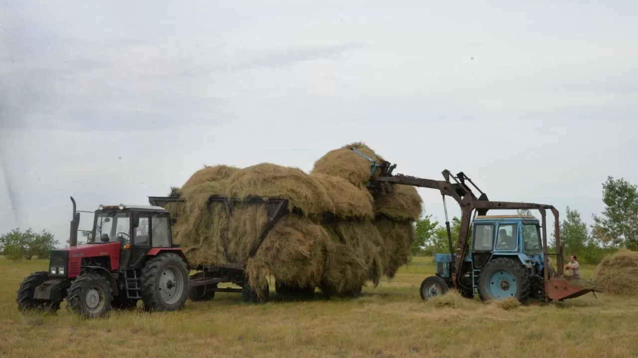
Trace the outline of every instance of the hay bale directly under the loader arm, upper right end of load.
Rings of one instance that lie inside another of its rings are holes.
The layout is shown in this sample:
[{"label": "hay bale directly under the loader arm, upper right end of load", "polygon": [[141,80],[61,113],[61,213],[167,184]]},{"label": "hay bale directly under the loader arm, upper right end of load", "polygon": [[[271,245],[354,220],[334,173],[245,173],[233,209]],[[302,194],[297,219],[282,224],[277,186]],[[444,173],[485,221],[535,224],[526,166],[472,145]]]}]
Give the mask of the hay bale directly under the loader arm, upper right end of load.
[{"label": "hay bale directly under the loader arm, upper right end of load", "polygon": [[419,220],[423,199],[416,187],[392,184],[392,189],[375,198],[375,215],[393,220]]}]

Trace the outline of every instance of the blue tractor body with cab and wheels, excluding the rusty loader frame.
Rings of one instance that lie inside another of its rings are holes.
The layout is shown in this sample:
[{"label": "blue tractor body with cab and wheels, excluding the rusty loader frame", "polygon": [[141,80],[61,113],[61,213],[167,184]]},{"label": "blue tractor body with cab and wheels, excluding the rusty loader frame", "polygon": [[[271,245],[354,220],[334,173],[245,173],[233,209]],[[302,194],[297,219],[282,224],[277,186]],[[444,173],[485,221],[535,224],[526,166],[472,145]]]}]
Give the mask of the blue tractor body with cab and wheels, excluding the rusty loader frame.
[{"label": "blue tractor body with cab and wheels, excluding the rusty loader frame", "polygon": [[[551,264],[545,266],[540,222],[531,215],[484,215],[471,225],[471,250],[461,262],[457,285],[461,295],[483,301],[514,297],[545,298],[544,271],[554,276]],[[452,254],[434,256],[436,275],[421,283],[424,300],[445,293],[452,282]]]}]

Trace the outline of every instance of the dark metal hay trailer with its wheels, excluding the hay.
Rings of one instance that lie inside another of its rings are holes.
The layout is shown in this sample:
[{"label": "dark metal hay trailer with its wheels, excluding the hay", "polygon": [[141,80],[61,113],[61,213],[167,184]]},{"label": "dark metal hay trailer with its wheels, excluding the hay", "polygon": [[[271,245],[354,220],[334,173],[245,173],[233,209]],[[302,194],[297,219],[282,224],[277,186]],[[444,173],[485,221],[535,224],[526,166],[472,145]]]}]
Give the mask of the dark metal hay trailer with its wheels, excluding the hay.
[{"label": "dark metal hay trailer with its wheels, excluding the hay", "polygon": [[[152,206],[166,207],[168,203],[180,203],[184,202],[181,197],[159,197],[149,196],[149,203]],[[267,221],[261,228],[260,234],[256,239],[253,247],[249,250],[248,257],[245,257],[240,262],[233,264],[214,264],[211,266],[197,265],[191,267],[192,270],[197,271],[193,275],[189,276],[188,283],[188,297],[192,301],[207,301],[213,299],[215,292],[234,292],[240,293],[242,301],[250,303],[264,303],[269,299],[269,288],[266,286],[261,292],[255,292],[248,285],[248,276],[246,275],[246,262],[251,257],[255,256],[263,241],[271,231],[272,227],[278,222],[278,220],[286,215],[288,211],[288,200],[281,198],[262,199],[260,197],[248,197],[246,199],[237,199],[232,197],[211,196],[208,199],[207,204],[211,203],[223,203],[226,215],[231,217],[234,208],[239,204],[248,205],[265,205],[267,211]],[[235,289],[232,287],[221,288],[218,287],[219,283],[232,283],[241,287]],[[286,287],[280,287],[277,289],[285,290]],[[314,292],[314,289],[313,289]],[[309,294],[313,294],[309,292]]]}]

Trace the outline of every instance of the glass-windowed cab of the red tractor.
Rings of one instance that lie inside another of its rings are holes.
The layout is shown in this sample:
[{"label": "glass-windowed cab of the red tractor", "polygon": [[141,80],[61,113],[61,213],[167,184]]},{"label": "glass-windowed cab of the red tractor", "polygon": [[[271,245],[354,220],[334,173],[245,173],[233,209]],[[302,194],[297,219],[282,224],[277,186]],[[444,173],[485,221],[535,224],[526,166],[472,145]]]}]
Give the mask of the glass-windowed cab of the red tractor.
[{"label": "glass-windowed cab of the red tractor", "polygon": [[135,269],[151,248],[170,248],[170,213],[160,206],[100,205],[89,245],[120,243],[120,269]]}]

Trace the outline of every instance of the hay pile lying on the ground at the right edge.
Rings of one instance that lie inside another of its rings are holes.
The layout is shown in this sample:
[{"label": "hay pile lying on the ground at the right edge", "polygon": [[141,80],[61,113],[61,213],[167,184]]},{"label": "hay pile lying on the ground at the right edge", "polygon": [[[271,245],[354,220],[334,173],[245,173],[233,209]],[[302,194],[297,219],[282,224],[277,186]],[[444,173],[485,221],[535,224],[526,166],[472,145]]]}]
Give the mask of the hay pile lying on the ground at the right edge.
[{"label": "hay pile lying on the ground at the right edge", "polygon": [[621,249],[602,259],[593,280],[605,292],[619,296],[638,295],[638,252]]}]

